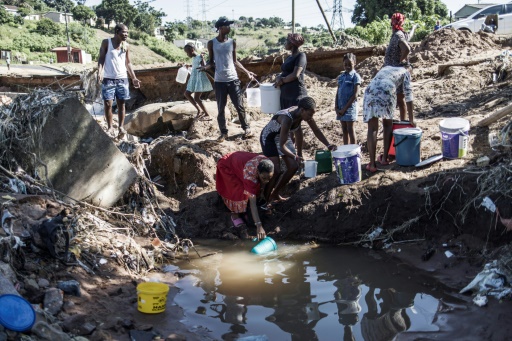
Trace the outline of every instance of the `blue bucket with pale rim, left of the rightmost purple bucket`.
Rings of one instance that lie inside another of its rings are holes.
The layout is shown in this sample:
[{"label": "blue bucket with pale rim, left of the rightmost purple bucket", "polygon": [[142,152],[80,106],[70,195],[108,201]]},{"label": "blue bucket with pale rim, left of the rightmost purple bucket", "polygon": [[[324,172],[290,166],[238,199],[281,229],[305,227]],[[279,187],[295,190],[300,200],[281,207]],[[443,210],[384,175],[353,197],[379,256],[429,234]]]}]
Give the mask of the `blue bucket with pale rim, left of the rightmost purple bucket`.
[{"label": "blue bucket with pale rim, left of the rightmost purple bucket", "polygon": [[393,131],[396,149],[396,163],[400,166],[414,166],[421,161],[420,128],[402,128]]}]

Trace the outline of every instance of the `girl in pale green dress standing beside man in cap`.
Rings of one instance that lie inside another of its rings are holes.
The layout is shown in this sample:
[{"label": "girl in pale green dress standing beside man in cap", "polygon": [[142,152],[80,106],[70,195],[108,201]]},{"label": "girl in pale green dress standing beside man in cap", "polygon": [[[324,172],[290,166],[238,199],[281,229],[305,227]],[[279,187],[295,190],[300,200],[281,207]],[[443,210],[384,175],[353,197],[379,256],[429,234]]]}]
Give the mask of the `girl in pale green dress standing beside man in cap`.
[{"label": "girl in pale green dress standing beside man in cap", "polygon": [[[212,83],[208,80],[206,73],[199,71],[201,66],[205,66],[203,54],[197,54],[196,47],[192,43],[185,45],[184,50],[187,56],[192,58],[192,70],[187,83],[185,97],[197,109],[196,118],[198,120],[211,121],[212,119],[201,100],[201,93],[213,90]],[[192,97],[192,93],[194,93],[194,97]]]}]

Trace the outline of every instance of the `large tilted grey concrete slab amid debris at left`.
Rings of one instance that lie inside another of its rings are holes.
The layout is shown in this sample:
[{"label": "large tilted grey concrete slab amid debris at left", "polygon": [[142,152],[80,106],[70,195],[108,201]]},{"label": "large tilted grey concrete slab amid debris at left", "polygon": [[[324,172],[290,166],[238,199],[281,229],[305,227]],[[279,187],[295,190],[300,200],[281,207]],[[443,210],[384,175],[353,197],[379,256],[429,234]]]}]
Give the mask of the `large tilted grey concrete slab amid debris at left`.
[{"label": "large tilted grey concrete slab amid debris at left", "polygon": [[[135,168],[75,98],[60,102],[47,118],[38,154],[56,190],[102,207],[114,205],[137,178]],[[38,172],[44,179],[45,169]]]}]

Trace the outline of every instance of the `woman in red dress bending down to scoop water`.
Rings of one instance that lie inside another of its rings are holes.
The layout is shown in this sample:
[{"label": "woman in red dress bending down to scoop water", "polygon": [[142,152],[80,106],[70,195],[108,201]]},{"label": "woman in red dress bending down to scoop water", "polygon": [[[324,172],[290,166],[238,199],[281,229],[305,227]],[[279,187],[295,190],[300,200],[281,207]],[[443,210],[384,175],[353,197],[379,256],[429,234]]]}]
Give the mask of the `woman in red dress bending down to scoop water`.
[{"label": "woman in red dress bending down to scoop water", "polygon": [[[265,238],[265,230],[256,205],[261,185],[274,175],[274,164],[267,157],[249,152],[224,155],[217,162],[215,185],[224,204],[231,211],[231,221],[237,234],[248,239],[246,222],[241,217],[250,211],[259,239]],[[247,203],[249,202],[249,207]]]}]

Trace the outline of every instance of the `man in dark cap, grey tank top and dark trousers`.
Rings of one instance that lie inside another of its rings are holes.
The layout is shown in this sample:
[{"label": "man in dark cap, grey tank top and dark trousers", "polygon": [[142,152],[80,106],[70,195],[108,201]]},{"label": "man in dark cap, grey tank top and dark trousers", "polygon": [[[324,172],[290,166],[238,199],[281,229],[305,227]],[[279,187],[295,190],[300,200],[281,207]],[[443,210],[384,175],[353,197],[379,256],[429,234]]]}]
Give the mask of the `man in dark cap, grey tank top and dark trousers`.
[{"label": "man in dark cap, grey tank top and dark trousers", "polygon": [[217,139],[219,142],[224,141],[228,137],[225,115],[228,95],[238,112],[240,125],[245,131],[244,137],[248,138],[253,136],[245,114],[242,99],[243,93],[240,88],[240,80],[236,73],[236,67],[244,71],[251,80],[256,75],[244,68],[242,63],[236,59],[236,42],[228,37],[231,31],[229,25],[232,23],[233,21],[227,19],[217,20],[215,28],[219,34],[208,42],[210,60],[205,66],[199,68],[201,71],[215,68],[215,99],[217,100],[217,109],[219,111],[217,122],[219,123],[221,133],[220,137]]}]

